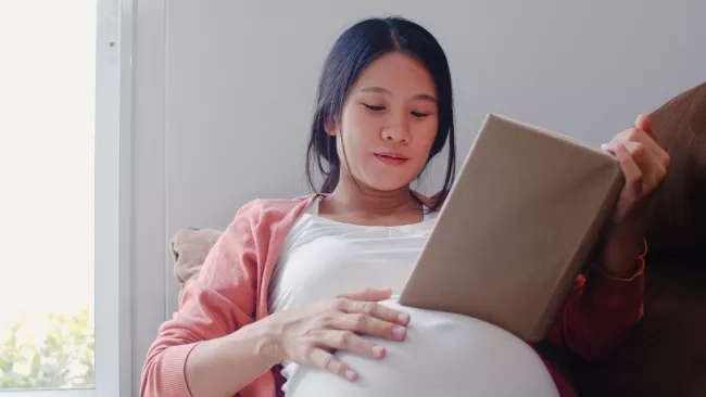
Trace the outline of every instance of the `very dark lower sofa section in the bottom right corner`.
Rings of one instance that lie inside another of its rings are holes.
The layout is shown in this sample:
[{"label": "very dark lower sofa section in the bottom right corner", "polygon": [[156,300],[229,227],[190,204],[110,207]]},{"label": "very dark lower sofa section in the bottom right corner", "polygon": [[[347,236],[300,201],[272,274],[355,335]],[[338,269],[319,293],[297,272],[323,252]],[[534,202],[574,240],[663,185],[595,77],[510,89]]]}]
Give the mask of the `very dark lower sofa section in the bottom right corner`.
[{"label": "very dark lower sofa section in the bottom right corner", "polygon": [[647,257],[645,317],[609,362],[575,362],[580,396],[706,396],[705,265]]}]

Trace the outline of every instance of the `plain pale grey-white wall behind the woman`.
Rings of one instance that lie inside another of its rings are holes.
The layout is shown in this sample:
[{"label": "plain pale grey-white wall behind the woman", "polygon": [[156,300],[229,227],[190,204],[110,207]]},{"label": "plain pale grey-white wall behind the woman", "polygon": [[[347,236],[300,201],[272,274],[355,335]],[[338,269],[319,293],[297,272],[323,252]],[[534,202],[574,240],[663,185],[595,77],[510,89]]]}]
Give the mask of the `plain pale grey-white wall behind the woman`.
[{"label": "plain pale grey-white wall behind the woman", "polygon": [[706,2],[698,0],[272,3],[137,1],[138,361],[176,308],[171,234],[224,228],[255,197],[306,193],[305,143],[320,66],[338,34],[360,18],[400,14],[441,41],[461,158],[486,113],[597,145],[639,112],[706,79]]}]

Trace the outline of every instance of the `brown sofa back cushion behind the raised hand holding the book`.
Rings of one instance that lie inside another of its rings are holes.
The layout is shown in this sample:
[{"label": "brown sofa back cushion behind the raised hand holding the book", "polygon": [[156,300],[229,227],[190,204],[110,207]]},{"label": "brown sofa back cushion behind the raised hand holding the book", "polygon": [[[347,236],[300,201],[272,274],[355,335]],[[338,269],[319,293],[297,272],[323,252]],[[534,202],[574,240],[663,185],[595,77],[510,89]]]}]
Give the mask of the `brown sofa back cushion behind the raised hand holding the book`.
[{"label": "brown sofa back cushion behind the raised hand holding the book", "polygon": [[650,251],[706,258],[706,82],[664,104],[652,121],[671,165],[652,203]]}]

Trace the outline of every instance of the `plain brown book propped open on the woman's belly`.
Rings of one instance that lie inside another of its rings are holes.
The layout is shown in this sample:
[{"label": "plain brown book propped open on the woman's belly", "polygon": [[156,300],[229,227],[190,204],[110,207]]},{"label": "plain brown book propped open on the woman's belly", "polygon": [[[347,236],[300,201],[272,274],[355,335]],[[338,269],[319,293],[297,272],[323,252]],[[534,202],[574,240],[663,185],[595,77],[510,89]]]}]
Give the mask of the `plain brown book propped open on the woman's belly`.
[{"label": "plain brown book propped open on the woman's belly", "polygon": [[610,154],[488,115],[399,303],[545,338],[623,183]]}]

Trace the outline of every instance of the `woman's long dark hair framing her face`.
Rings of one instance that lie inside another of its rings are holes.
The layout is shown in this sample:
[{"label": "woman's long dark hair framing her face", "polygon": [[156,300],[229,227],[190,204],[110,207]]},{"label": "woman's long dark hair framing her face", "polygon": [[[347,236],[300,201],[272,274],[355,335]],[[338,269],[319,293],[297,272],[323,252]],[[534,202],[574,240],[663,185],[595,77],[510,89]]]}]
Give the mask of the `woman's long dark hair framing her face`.
[{"label": "woman's long dark hair framing her face", "polygon": [[336,189],[341,161],[336,150],[336,137],[326,132],[326,125],[340,116],[349,90],[361,73],[375,60],[390,52],[402,52],[420,62],[436,85],[439,129],[427,165],[449,141],[449,158],[442,194],[432,206],[438,208],[444,200],[445,192],[453,184],[456,174],[451,73],[446,55],[437,39],[424,27],[401,17],[358,22],[341,34],[329,52],[318,84],[316,110],[308,140],[306,158],[308,184],[317,191],[312,178],[312,168],[316,165],[325,178],[318,192],[331,193]]}]

